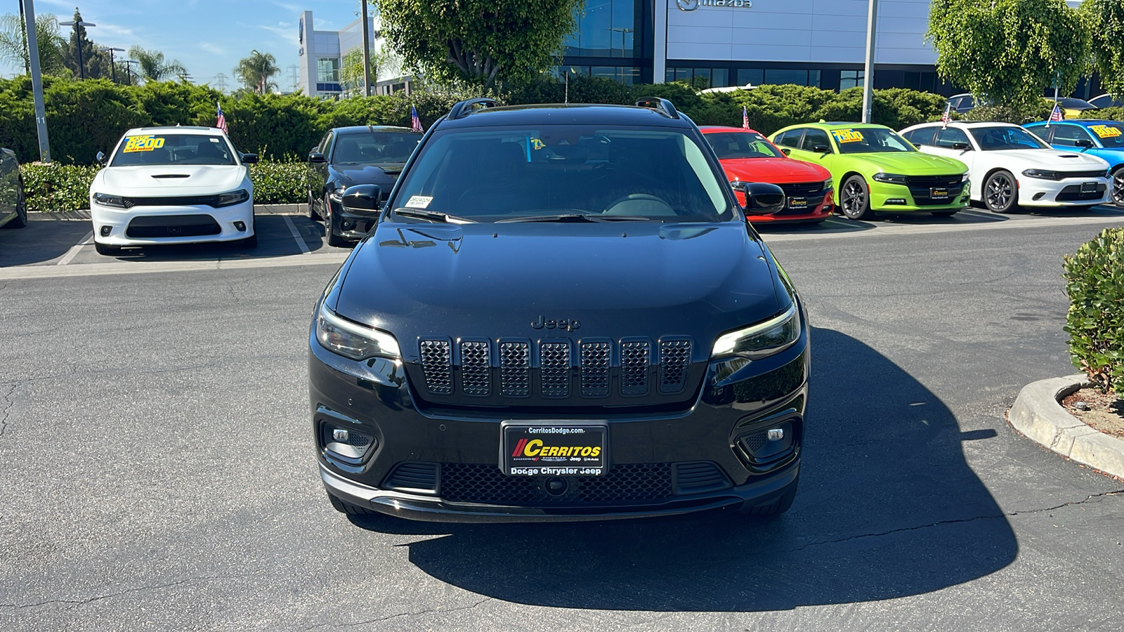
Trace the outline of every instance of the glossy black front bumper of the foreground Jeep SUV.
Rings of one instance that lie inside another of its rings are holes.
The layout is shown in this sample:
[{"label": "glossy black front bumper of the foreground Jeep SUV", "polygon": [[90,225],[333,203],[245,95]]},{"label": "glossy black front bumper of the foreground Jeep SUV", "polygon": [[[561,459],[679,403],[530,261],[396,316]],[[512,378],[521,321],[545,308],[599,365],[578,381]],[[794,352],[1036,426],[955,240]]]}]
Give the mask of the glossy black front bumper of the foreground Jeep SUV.
[{"label": "glossy black front bumper of the foreground Jeep SUV", "polygon": [[[610,406],[561,417],[552,407],[528,415],[419,406],[399,362],[354,362],[328,352],[310,333],[310,412],[320,478],[328,494],[347,503],[424,521],[590,521],[765,505],[791,490],[799,475],[807,332],[805,326],[796,345],[764,360],[709,362],[686,409],[629,413]],[[559,498],[542,494],[549,477],[504,475],[500,424],[513,418],[605,423],[608,472],[570,479],[573,495]],[[788,428],[782,451],[747,448],[778,425]],[[359,458],[334,452],[327,439],[332,428],[370,437],[368,452]],[[430,478],[414,478],[416,488],[404,487],[398,482],[402,466],[428,468]],[[711,472],[709,484],[683,482],[685,471],[700,470]],[[670,478],[656,480],[664,476]]]}]

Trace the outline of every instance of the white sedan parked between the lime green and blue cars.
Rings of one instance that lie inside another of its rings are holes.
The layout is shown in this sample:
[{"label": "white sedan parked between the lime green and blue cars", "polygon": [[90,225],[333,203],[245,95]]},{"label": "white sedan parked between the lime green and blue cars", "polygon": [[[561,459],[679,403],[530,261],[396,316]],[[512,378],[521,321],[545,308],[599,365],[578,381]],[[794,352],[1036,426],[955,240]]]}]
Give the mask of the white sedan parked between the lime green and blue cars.
[{"label": "white sedan parked between the lime green and blue cars", "polygon": [[927,123],[907,127],[901,135],[922,152],[967,164],[972,201],[996,213],[1010,213],[1017,206],[1090,207],[1109,201],[1107,162],[1054,150],[1017,125]]}]

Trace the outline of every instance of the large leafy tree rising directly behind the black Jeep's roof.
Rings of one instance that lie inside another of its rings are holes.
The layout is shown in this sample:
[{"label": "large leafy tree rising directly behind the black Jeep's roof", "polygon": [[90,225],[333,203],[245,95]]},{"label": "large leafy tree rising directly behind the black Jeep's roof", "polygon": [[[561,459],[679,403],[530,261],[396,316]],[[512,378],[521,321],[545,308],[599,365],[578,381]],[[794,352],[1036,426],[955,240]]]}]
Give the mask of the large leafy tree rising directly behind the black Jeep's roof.
[{"label": "large leafy tree rising directly behind the black Jeep's roof", "polygon": [[402,56],[438,81],[482,85],[550,67],[577,26],[584,0],[379,0],[382,33]]}]

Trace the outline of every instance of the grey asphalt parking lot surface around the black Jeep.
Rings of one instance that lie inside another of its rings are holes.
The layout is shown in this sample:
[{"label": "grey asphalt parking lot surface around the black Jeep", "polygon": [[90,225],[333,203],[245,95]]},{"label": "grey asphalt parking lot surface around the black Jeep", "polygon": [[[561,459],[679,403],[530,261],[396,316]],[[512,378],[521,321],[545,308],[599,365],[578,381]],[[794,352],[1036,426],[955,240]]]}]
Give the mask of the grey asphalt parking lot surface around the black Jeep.
[{"label": "grey asphalt parking lot surface around the black Jeep", "polygon": [[1122,225],[762,227],[814,326],[792,509],[498,526],[328,505],[305,347],[348,251],[319,225],[121,258],[0,231],[0,629],[1118,630],[1124,482],[1005,412],[1075,371],[1061,256]]}]

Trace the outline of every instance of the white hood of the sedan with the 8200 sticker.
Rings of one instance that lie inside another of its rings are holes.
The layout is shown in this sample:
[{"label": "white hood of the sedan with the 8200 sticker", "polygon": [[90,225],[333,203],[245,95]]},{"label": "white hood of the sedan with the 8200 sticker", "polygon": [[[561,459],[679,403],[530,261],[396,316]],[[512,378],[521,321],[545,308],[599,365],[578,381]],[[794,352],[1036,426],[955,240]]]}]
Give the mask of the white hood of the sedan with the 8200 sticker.
[{"label": "white hood of the sedan with the 8200 sticker", "polygon": [[193,196],[248,189],[250,178],[246,168],[236,164],[107,166],[98,172],[92,188],[118,196]]}]

